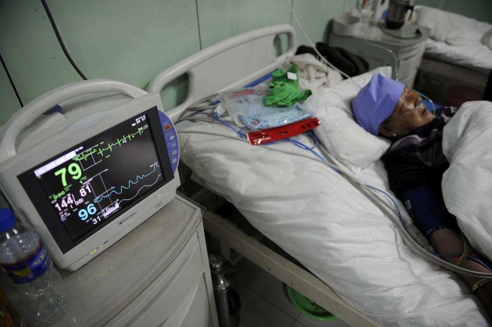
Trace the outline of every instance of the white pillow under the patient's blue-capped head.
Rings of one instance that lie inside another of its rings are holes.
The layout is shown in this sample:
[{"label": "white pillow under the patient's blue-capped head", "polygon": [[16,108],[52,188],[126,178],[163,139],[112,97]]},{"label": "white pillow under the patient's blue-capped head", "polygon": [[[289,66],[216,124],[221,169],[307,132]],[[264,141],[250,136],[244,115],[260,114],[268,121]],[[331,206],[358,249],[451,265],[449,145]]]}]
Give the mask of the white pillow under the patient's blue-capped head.
[{"label": "white pillow under the patient's blue-capped head", "polygon": [[319,141],[354,172],[379,160],[391,145],[388,139],[374,136],[360,127],[352,114],[352,98],[376,73],[391,77],[391,67],[379,67],[346,79],[306,99],[306,104],[313,108],[320,121],[314,129]]}]

